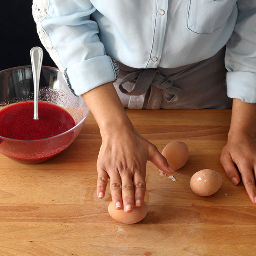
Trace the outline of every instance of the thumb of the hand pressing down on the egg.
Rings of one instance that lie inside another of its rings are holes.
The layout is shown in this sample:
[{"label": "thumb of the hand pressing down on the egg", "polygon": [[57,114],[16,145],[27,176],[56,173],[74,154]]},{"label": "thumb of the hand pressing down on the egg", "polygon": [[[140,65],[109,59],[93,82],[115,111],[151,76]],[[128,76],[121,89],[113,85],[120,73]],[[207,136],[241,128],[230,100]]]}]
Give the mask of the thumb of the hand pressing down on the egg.
[{"label": "thumb of the hand pressing down on the egg", "polygon": [[148,160],[163,172],[172,173],[174,170],[169,166],[166,158],[158,151],[155,145],[148,146]]}]

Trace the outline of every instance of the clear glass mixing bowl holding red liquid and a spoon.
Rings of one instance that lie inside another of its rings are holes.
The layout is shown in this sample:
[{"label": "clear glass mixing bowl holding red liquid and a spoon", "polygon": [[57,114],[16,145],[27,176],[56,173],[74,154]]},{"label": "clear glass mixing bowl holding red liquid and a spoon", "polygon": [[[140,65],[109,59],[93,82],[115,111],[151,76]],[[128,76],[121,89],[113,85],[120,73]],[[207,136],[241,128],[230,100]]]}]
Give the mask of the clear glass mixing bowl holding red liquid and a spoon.
[{"label": "clear glass mixing bowl holding red liquid and a spoon", "polygon": [[[62,72],[48,66],[42,66],[39,100],[67,110],[76,125],[62,134],[37,140],[16,140],[0,136],[0,152],[8,158],[26,164],[37,164],[56,156],[75,140],[90,112],[82,96],[72,94]],[[31,66],[0,71],[0,110],[24,101],[34,101]]]}]

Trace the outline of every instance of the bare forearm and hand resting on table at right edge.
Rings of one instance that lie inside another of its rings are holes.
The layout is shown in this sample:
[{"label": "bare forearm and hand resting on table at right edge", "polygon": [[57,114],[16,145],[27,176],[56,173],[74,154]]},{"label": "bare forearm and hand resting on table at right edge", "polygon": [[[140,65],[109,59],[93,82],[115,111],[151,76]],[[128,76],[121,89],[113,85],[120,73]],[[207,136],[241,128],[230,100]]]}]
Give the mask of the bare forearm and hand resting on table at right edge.
[{"label": "bare forearm and hand resting on table at right edge", "polygon": [[256,104],[233,99],[228,142],[220,162],[235,185],[241,176],[250,200],[256,204]]}]

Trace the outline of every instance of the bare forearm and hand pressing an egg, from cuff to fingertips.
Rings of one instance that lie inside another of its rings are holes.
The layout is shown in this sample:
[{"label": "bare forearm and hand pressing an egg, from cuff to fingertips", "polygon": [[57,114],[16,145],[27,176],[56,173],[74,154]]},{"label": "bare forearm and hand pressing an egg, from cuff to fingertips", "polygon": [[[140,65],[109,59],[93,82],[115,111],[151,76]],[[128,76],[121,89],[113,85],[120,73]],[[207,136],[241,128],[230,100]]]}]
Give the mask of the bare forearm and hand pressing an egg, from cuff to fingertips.
[{"label": "bare forearm and hand pressing an egg, from cuff to fingertips", "polygon": [[100,128],[102,145],[97,161],[97,195],[103,198],[110,178],[116,209],[131,212],[143,204],[146,191],[146,162],[171,173],[167,160],[156,146],[143,138],[130,122],[114,85],[107,83],[83,94]]}]

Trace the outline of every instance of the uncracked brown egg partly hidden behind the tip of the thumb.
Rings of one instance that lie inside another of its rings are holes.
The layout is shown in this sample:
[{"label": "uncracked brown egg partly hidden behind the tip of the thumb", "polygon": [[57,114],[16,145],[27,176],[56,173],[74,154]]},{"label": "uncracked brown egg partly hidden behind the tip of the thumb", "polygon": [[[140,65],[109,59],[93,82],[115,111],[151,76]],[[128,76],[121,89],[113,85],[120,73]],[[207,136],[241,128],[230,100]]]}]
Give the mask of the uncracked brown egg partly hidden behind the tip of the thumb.
[{"label": "uncracked brown egg partly hidden behind the tip of the thumb", "polygon": [[173,170],[178,170],[188,161],[188,146],[182,141],[174,140],[164,147],[162,155]]}]

